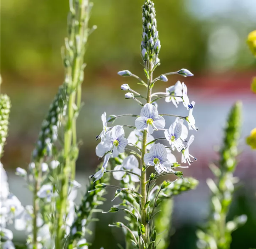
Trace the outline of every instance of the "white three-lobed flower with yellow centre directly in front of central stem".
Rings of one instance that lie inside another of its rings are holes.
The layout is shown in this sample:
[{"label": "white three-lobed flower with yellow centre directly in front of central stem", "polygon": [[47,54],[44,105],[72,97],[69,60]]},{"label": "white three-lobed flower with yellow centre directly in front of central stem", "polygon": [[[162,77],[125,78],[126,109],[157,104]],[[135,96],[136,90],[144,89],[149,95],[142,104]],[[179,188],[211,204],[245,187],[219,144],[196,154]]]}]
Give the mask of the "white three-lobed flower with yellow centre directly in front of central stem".
[{"label": "white three-lobed flower with yellow centre directly in front of central stem", "polygon": [[165,119],[158,115],[158,111],[152,104],[145,104],[140,111],[140,117],[135,120],[135,126],[138,130],[147,130],[152,134],[154,129],[165,127]]}]

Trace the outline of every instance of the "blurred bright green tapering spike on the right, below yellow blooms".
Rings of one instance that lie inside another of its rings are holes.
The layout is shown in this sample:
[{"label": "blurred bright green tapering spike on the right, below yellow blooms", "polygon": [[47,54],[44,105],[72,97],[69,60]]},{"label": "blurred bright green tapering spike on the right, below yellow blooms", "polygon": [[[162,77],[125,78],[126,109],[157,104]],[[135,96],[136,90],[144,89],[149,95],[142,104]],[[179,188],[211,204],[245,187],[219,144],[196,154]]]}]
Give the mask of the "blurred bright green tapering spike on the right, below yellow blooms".
[{"label": "blurred bright green tapering spike on the right, below yellow blooms", "polygon": [[217,183],[207,179],[207,184],[212,191],[211,217],[202,230],[197,231],[199,241],[197,246],[200,249],[229,249],[232,241],[231,233],[243,225],[247,217],[241,215],[232,221],[226,220],[232,195],[234,183],[237,179],[233,177],[236,168],[236,156],[238,154],[238,139],[241,126],[241,103],[237,102],[232,107],[226,127],[224,129],[223,145],[219,151],[219,168],[211,166],[212,173],[217,178]]}]

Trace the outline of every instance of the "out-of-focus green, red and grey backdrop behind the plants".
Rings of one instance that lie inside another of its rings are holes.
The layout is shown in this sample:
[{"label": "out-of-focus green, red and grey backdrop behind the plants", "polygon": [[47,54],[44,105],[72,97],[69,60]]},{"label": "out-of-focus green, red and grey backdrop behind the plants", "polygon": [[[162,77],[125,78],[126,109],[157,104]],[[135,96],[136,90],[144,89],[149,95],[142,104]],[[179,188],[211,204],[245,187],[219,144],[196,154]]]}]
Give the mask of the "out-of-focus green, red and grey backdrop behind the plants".
[{"label": "out-of-focus green, red and grey backdrop behind the plants", "polygon": [[[10,135],[2,163],[10,172],[13,192],[19,196],[22,183],[11,172],[16,167],[27,167],[40,123],[64,78],[60,47],[66,35],[68,0],[1,0],[0,4],[1,93],[9,94],[12,101]],[[142,4],[143,0],[94,1],[90,24],[96,24],[98,29],[89,37],[84,106],[78,120],[83,145],[77,170],[81,175],[79,182],[83,184],[98,163],[96,155],[92,155],[96,146],[94,138],[101,131],[100,115],[104,111],[107,115],[139,112],[136,105],[124,100],[119,86],[129,83],[140,92],[143,88],[116,72],[128,69],[143,77],[140,65]],[[244,144],[244,137],[255,127],[256,98],[249,88],[251,77],[256,74],[256,63],[246,46],[246,37],[256,27],[256,2],[155,0],[155,8],[162,45],[161,66],[156,76],[181,68],[195,75],[188,79],[170,77],[167,83],[156,86],[156,91],[164,91],[176,80],[184,80],[190,99],[197,102],[195,118],[199,127],[194,149],[191,148],[192,155],[197,155],[199,160],[186,174],[199,179],[200,185],[175,199],[173,229],[176,233],[171,237],[170,248],[196,248],[194,232],[208,211],[209,191],[205,179],[212,175],[207,164],[216,159],[213,146],[221,143],[224,120],[237,99],[244,103],[243,153],[237,169],[241,184],[230,218],[246,213],[249,220],[234,232],[231,248],[256,247],[256,157]],[[177,112],[173,106],[160,103],[165,106],[160,108]],[[183,108],[180,110],[186,113]],[[125,121],[128,119],[122,122]],[[129,122],[132,124],[134,120]],[[30,199],[24,197],[21,201],[26,204]],[[116,218],[109,214],[100,218],[102,221],[96,224],[95,233],[100,239],[95,240],[92,248],[117,248],[116,243],[123,243],[121,230],[107,226]]]}]

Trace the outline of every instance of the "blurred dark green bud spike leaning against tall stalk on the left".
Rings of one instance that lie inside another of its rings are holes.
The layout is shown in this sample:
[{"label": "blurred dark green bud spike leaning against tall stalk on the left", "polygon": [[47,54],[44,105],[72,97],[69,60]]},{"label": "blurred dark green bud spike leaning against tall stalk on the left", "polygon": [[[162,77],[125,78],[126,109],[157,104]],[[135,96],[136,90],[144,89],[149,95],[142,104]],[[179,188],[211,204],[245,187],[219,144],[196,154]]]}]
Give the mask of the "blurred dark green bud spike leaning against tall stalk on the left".
[{"label": "blurred dark green bud spike leaning against tall stalk on the left", "polygon": [[61,118],[65,116],[67,97],[65,86],[60,86],[59,91],[52,102],[48,115],[42,123],[41,132],[35,149],[33,158],[41,158],[43,156],[51,156],[52,145],[57,140],[58,129],[60,127]]}]

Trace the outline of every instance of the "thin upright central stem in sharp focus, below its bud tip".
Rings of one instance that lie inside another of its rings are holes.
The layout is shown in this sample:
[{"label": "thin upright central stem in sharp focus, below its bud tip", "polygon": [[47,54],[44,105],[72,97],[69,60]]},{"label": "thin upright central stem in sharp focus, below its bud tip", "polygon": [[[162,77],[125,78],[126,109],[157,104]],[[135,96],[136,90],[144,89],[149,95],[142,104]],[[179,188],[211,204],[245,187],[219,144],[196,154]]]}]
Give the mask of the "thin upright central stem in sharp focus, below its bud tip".
[{"label": "thin upright central stem in sharp focus, below its bud tip", "polygon": [[[149,80],[148,80],[148,89],[147,89],[147,99],[146,99],[146,103],[150,103],[151,102],[151,88],[150,85],[153,81],[153,63],[152,61],[149,62]],[[143,165],[144,163],[144,155],[147,152],[146,149],[146,145],[147,145],[147,132],[146,130],[143,132],[143,139],[142,139],[142,153],[141,153],[141,195],[142,195],[142,199],[141,199],[141,205],[142,205],[142,210],[141,210],[141,221],[142,224],[145,227],[145,234],[143,236],[144,242],[147,243],[148,242],[148,225],[147,225],[147,210],[145,209],[145,203],[146,203],[146,198],[147,198],[147,188],[146,188],[146,181],[147,181],[147,174],[146,174],[146,169],[143,169]],[[145,166],[145,165],[144,165]]]}]

